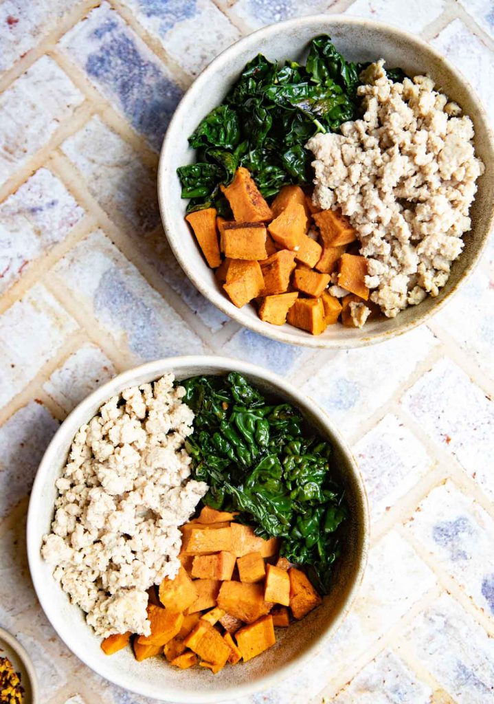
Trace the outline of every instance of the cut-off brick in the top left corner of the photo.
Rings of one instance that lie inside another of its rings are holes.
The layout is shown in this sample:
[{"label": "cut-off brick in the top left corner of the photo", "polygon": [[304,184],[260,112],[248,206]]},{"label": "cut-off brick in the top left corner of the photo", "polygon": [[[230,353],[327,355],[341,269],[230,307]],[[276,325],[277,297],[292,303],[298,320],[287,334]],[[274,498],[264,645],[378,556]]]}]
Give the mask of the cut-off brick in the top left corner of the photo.
[{"label": "cut-off brick in the top left corner of the photo", "polygon": [[72,0],[36,0],[26,12],[25,0],[5,0],[0,5],[0,72],[39,44],[73,5]]}]

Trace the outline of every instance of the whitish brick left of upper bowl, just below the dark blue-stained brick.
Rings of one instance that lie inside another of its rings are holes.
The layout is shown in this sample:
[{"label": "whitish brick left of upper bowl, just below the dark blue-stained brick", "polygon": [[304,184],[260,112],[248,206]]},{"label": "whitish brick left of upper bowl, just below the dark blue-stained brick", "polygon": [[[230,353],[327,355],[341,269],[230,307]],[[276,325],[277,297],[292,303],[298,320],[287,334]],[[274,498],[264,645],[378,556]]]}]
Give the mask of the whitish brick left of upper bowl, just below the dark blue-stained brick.
[{"label": "whitish brick left of upper bowl, just below the dark blue-stained brick", "polygon": [[65,139],[61,149],[109,215],[122,213],[142,232],[158,225],[156,173],[99,117],[91,118],[82,130]]}]

